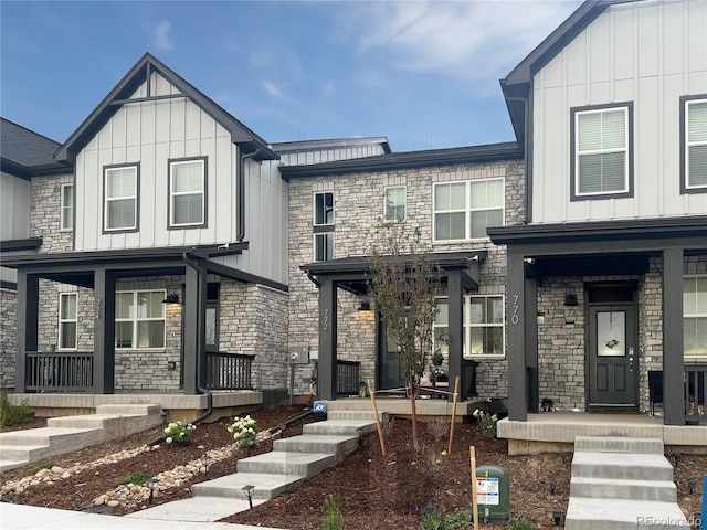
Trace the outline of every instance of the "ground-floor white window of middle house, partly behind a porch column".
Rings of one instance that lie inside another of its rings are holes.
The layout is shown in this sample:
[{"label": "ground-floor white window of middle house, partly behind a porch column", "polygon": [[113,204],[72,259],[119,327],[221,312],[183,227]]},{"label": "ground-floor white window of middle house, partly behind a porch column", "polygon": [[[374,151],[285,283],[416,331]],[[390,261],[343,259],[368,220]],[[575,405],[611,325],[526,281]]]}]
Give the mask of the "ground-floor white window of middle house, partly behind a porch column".
[{"label": "ground-floor white window of middle house, partly behind a porch column", "polygon": [[[446,298],[439,304],[434,321],[434,350],[449,353],[450,309]],[[505,306],[503,295],[466,295],[463,310],[463,353],[465,357],[504,357]]]}]

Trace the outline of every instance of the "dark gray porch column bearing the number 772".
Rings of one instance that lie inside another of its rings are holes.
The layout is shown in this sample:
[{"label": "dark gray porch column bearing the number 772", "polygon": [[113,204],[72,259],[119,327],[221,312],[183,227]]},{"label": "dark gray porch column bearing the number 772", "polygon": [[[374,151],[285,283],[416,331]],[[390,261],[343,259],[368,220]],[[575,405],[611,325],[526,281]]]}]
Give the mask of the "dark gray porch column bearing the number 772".
[{"label": "dark gray porch column bearing the number 772", "polygon": [[319,286],[319,368],[317,386],[320,400],[336,400],[337,285],[321,278]]}]

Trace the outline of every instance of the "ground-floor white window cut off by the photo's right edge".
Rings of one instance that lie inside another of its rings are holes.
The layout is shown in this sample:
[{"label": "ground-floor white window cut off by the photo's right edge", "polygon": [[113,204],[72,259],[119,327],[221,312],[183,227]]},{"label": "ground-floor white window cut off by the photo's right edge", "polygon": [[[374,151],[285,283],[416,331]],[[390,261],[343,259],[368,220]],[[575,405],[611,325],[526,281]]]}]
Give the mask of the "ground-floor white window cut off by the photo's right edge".
[{"label": "ground-floor white window cut off by the photo's right edge", "polygon": [[707,356],[707,276],[683,278],[685,357]]}]

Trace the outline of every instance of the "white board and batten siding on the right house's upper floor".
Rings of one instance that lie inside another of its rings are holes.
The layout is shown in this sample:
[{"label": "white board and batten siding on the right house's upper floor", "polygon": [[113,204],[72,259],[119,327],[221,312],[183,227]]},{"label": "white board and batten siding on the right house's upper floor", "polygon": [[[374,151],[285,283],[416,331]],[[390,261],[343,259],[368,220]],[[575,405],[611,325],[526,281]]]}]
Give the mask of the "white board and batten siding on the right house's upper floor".
[{"label": "white board and batten siding on the right house's upper floor", "polygon": [[[532,80],[532,223],[707,213],[680,194],[679,98],[707,94],[707,1],[612,6]],[[570,109],[633,102],[634,197],[570,201]]]}]

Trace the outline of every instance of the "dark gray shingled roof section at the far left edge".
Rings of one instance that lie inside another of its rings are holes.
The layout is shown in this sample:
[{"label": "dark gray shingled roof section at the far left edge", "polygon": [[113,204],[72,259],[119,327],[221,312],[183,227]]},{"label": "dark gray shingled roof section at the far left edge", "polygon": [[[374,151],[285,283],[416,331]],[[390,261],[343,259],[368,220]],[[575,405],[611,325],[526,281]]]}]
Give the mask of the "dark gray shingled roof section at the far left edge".
[{"label": "dark gray shingled roof section at the far left edge", "polygon": [[60,144],[0,118],[0,169],[22,179],[34,174],[71,172],[71,167],[57,163],[53,155]]}]

